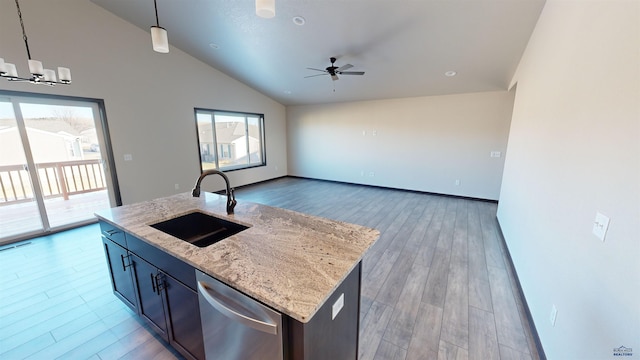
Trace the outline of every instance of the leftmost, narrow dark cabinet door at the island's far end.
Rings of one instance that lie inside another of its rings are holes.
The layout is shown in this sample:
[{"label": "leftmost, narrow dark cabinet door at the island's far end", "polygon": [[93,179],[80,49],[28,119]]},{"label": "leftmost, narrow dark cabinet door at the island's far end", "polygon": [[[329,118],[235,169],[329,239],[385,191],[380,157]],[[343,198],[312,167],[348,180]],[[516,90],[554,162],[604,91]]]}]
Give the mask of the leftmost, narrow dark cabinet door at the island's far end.
[{"label": "leftmost, narrow dark cabinet door at the island's far end", "polygon": [[113,293],[131,310],[138,313],[136,292],[133,283],[131,259],[127,250],[113,241],[102,238],[104,253],[107,257]]}]

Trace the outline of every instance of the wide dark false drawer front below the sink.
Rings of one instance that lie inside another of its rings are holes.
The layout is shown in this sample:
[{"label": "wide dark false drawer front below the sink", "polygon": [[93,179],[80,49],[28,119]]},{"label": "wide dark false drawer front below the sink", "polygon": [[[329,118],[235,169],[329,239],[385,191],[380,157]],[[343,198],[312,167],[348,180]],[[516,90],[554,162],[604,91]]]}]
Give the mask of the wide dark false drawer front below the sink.
[{"label": "wide dark false drawer front below the sink", "polygon": [[127,248],[132,253],[173,276],[178,281],[190,287],[191,290],[197,291],[196,275],[193,266],[131,234],[127,234],[127,245]]}]

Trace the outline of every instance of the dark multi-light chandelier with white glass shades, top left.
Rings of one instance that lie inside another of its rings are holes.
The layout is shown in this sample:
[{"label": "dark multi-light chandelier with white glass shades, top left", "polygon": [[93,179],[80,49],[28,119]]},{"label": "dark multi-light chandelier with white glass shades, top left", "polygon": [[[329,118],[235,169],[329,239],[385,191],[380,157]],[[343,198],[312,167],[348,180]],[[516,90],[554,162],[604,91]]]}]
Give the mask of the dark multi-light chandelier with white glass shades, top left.
[{"label": "dark multi-light chandelier with white glass shades, top left", "polygon": [[28,81],[32,84],[41,84],[54,86],[55,84],[68,85],[71,83],[71,70],[66,67],[58,68],[58,77],[56,78],[56,72],[50,69],[45,69],[42,66],[42,62],[31,59],[31,52],[29,51],[29,42],[27,41],[27,34],[24,30],[24,22],[22,21],[22,12],[20,11],[20,4],[16,0],[16,8],[18,9],[18,18],[20,19],[20,27],[22,27],[22,39],[24,39],[24,45],[27,48],[27,58],[29,60],[29,72],[31,77],[18,76],[18,70],[16,65],[12,63],[5,63],[4,59],[0,58],[0,77],[3,77],[9,81]]}]

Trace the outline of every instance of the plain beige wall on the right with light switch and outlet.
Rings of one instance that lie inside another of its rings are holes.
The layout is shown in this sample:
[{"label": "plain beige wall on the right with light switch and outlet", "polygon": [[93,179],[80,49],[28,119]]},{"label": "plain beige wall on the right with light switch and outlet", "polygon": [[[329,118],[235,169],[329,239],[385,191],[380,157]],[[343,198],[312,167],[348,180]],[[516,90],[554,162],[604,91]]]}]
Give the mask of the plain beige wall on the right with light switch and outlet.
[{"label": "plain beige wall on the right with light switch and outlet", "polygon": [[514,78],[498,217],[549,359],[640,356],[639,24],[638,1],[548,0]]}]

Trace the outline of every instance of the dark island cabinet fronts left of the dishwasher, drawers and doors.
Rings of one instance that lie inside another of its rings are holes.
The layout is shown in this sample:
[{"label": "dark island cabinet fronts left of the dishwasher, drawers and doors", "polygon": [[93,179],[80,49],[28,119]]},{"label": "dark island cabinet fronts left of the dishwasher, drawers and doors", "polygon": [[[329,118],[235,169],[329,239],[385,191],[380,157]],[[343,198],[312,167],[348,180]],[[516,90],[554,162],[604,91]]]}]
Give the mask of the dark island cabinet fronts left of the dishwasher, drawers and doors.
[{"label": "dark island cabinet fronts left of the dishwasher, drawers and doors", "polygon": [[195,269],[109,224],[100,226],[114,294],[185,358],[204,359]]}]

